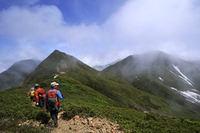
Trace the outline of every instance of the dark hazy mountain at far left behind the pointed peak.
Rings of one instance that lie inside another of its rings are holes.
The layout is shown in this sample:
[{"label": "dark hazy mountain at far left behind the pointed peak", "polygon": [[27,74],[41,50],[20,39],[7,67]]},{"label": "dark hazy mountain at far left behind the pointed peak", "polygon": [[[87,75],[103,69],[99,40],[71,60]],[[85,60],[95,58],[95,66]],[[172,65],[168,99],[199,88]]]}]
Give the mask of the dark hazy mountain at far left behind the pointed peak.
[{"label": "dark hazy mountain at far left behind the pointed peak", "polygon": [[6,71],[0,73],[0,90],[15,87],[23,83],[27,75],[39,65],[39,60],[28,59],[14,63]]}]

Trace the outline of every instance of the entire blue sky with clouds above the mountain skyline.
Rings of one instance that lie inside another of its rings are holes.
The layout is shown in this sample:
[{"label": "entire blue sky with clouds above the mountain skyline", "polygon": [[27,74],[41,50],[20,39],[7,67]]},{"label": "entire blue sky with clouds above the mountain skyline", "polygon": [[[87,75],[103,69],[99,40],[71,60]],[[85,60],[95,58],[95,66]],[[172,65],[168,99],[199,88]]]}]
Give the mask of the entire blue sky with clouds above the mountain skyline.
[{"label": "entire blue sky with clouds above the mountain skyline", "polygon": [[0,0],[0,72],[55,49],[89,66],[161,50],[200,60],[199,0]]}]

